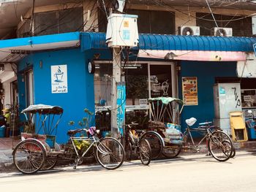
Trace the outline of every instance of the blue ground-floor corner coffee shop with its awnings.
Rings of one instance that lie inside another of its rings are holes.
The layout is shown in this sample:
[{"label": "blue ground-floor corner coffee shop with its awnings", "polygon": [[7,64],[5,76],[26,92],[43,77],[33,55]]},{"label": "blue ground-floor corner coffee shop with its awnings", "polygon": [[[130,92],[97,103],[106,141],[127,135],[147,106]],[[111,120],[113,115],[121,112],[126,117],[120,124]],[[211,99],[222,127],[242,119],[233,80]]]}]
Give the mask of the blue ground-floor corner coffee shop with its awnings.
[{"label": "blue ground-floor corner coffee shop with its awnings", "polygon": [[[246,53],[253,52],[255,42],[254,38],[244,37],[140,34],[139,47],[130,51],[129,63],[123,68],[127,109],[145,110],[143,99],[164,93],[184,99],[182,77],[197,77],[197,101],[184,107],[181,125],[192,116],[198,121],[213,120],[214,83],[237,77],[237,61],[246,61]],[[105,45],[105,34],[74,32],[7,39],[0,42],[0,47],[5,57],[26,54],[18,61],[20,110],[29,104],[64,108],[57,134],[59,142],[67,140],[69,120],[78,122],[84,108],[104,111],[110,105],[112,53]],[[88,71],[89,61],[96,65],[94,74]],[[140,81],[139,91],[129,86],[136,81]],[[160,88],[163,82],[168,84],[166,91]]]}]

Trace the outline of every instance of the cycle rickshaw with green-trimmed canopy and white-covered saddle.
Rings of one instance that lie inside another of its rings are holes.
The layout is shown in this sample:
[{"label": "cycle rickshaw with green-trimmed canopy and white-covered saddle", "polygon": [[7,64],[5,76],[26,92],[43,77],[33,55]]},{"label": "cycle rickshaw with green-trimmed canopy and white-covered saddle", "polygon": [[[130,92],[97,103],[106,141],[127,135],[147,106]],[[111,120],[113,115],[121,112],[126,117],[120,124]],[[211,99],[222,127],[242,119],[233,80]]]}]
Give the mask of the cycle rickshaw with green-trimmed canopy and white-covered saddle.
[{"label": "cycle rickshaw with green-trimmed canopy and white-covered saddle", "polygon": [[[181,133],[180,114],[184,103],[180,99],[171,97],[157,97],[148,99],[151,120],[142,139],[148,139],[151,145],[152,158],[163,154],[174,158],[181,150],[198,152],[199,145],[206,139],[209,153],[218,161],[227,161],[235,154],[235,148],[230,137],[211,122],[199,123],[197,128],[191,128],[196,122],[195,118],[186,120],[187,128]],[[192,132],[203,134],[203,139],[195,144]],[[189,142],[188,142],[189,141]]]}]

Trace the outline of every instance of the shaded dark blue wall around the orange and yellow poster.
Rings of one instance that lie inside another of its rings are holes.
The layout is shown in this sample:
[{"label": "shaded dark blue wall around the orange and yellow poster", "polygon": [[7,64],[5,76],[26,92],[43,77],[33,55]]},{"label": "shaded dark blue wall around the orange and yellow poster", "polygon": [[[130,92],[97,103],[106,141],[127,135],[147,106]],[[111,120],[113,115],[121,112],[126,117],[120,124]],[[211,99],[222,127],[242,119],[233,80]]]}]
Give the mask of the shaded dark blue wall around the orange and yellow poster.
[{"label": "shaded dark blue wall around the orange and yellow poster", "polygon": [[[179,98],[182,99],[181,77],[197,77],[198,105],[184,106],[181,127],[186,128],[187,118],[196,118],[197,123],[214,119],[215,77],[236,77],[236,62],[181,61],[178,76]],[[195,126],[198,124],[195,123]]]}]

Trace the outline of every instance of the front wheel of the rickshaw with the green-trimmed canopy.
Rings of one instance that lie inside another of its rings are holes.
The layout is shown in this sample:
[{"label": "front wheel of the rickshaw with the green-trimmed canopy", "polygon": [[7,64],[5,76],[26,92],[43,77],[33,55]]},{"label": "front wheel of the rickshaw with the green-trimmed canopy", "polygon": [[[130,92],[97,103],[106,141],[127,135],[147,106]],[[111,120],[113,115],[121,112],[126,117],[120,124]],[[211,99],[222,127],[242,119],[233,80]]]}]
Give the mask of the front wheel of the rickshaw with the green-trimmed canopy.
[{"label": "front wheel of the rickshaw with the green-trimmed canopy", "polygon": [[208,142],[208,150],[218,161],[227,161],[233,151],[230,137],[222,131],[214,131]]}]

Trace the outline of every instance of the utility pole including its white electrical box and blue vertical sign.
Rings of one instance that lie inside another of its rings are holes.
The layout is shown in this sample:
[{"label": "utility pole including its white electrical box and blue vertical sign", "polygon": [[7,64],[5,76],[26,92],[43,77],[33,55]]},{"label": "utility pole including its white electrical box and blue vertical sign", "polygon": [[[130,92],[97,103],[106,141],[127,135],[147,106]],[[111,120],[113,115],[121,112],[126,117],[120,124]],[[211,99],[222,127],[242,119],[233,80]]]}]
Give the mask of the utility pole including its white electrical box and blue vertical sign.
[{"label": "utility pole including its white electrical box and blue vertical sign", "polygon": [[[116,10],[122,12],[126,0],[116,1]],[[121,83],[121,47],[138,46],[138,15],[117,14],[110,11],[106,43],[113,48],[113,76],[111,89],[111,136],[123,136],[125,118],[125,85]]]}]

